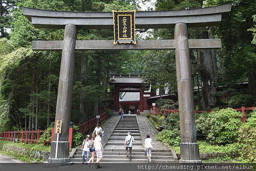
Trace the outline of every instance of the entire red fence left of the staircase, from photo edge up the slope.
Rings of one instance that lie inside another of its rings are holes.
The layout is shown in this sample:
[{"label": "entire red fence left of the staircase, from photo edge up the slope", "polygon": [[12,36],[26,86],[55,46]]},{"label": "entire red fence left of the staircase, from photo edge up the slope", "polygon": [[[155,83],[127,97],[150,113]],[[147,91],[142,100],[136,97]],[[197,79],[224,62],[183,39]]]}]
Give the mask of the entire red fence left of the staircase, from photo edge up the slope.
[{"label": "entire red fence left of the staircase, from photo edge up the slope", "polygon": [[[106,119],[108,117],[107,112],[103,112],[99,114],[99,123],[102,122],[102,120]],[[97,119],[96,116],[93,118],[85,121],[83,124],[79,126],[80,132],[85,134],[88,131],[94,129],[95,125],[97,124]],[[46,130],[12,130],[12,131],[6,131],[6,132],[1,132],[0,133],[0,140],[3,141],[10,141],[10,142],[21,142],[25,144],[33,144],[36,143],[37,145],[39,144],[38,140],[40,136],[45,132]],[[69,130],[69,137],[68,141],[70,142],[70,148],[72,148],[72,139],[73,139],[73,133],[74,129],[70,128]],[[52,138],[51,142],[53,141],[53,136],[54,136],[54,127],[52,127]]]}]

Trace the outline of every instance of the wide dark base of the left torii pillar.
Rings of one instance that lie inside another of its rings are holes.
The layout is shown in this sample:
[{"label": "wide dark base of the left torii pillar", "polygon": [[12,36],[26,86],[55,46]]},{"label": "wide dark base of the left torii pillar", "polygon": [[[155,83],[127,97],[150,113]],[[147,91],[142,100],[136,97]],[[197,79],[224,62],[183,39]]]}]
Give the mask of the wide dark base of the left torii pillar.
[{"label": "wide dark base of the left torii pillar", "polygon": [[55,158],[56,141],[51,142],[51,154],[48,158],[48,163],[70,163],[69,158],[69,142],[59,141],[58,142],[58,154]]}]

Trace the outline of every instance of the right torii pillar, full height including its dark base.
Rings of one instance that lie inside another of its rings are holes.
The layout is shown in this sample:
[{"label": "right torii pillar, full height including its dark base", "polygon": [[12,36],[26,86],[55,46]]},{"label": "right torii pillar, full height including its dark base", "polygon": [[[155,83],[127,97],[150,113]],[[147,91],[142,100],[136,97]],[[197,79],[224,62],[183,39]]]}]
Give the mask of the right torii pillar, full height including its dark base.
[{"label": "right torii pillar, full height including its dark base", "polygon": [[185,23],[175,24],[175,61],[180,113],[180,163],[201,163],[196,141],[194,98]]}]

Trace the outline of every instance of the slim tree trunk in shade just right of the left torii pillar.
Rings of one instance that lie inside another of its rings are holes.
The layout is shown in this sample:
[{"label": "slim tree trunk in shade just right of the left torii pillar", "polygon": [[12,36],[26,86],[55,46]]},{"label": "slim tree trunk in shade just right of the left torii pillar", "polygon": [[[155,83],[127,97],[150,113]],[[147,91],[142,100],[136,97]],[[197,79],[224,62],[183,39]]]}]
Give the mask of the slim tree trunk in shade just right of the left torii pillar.
[{"label": "slim tree trunk in shade just right of the left torii pillar", "polygon": [[[87,69],[87,55],[82,56],[81,58],[81,83],[82,86],[86,86],[86,69]],[[85,98],[85,92],[82,91],[80,94],[80,122],[84,122],[85,119],[87,119],[85,115],[85,104],[84,104],[84,98]]]}]

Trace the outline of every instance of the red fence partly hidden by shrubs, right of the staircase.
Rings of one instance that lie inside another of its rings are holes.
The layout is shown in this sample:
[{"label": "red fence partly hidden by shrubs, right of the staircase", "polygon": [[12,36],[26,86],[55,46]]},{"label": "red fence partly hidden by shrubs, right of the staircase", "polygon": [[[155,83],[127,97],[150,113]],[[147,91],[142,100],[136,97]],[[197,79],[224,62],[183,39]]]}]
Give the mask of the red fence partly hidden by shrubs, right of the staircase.
[{"label": "red fence partly hidden by shrubs, right of the staircase", "polygon": [[[236,111],[241,111],[242,113],[244,113],[244,116],[243,116],[243,122],[245,123],[246,121],[247,121],[247,117],[246,117],[246,110],[253,110],[253,109],[255,109],[255,107],[244,107],[244,106],[242,106],[241,108],[239,108],[239,109],[234,109],[234,110],[236,110]],[[204,110],[195,110],[195,113],[204,113],[204,112],[212,112],[213,111],[213,109],[210,109],[210,110],[208,110],[208,111],[204,111]],[[171,113],[178,113],[179,112],[179,110],[178,109],[166,109],[166,108],[164,108],[163,109],[163,114],[162,115],[164,115],[164,114],[171,114]],[[154,115],[155,116],[157,116],[158,114],[160,113],[160,108],[159,107],[154,107]]]}]

